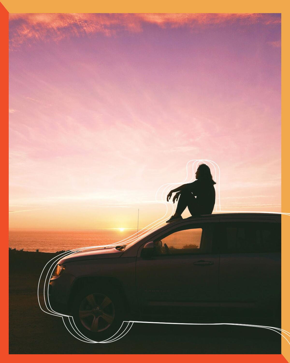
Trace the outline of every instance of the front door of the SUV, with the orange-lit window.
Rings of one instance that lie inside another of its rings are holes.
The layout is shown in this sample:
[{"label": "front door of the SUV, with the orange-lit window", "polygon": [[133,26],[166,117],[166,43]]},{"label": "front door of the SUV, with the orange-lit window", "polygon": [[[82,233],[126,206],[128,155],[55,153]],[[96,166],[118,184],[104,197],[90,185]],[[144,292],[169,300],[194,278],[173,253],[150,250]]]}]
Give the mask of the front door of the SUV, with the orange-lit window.
[{"label": "front door of the SUV, with the orange-lit window", "polygon": [[142,258],[139,250],[136,286],[143,312],[163,313],[170,307],[188,311],[188,308],[219,306],[219,254],[213,244],[216,224],[180,227],[161,236],[155,241],[152,257]]}]

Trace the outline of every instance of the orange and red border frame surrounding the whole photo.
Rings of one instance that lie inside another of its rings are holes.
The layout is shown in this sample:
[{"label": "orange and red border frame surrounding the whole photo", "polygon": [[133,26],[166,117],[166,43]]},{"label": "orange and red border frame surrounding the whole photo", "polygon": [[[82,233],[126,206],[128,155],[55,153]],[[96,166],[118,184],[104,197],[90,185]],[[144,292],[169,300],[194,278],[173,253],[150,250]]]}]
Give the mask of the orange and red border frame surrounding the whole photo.
[{"label": "orange and red border frame surrounding the whole photo", "polygon": [[[78,2],[77,0],[50,0],[47,2],[40,2],[37,0],[2,0],[2,5],[0,3],[0,49],[2,56],[0,57],[0,74],[1,74],[1,97],[0,104],[3,113],[3,125],[1,133],[1,148],[2,148],[2,166],[3,174],[7,172],[8,174],[8,14],[11,13],[54,13],[54,12],[70,12],[70,13],[124,13],[124,12],[169,12],[169,13],[199,13],[199,12],[211,12],[211,13],[282,13],[282,211],[290,213],[290,190],[287,187],[286,181],[290,179],[290,171],[287,168],[287,156],[289,154],[290,143],[288,140],[288,135],[290,134],[290,125],[288,122],[289,117],[289,96],[287,87],[289,84],[289,28],[290,28],[290,16],[289,16],[289,4],[286,1],[250,1],[244,0],[242,5],[234,4],[229,0],[221,0],[218,3],[213,0],[208,1],[207,4],[194,4],[182,2],[170,2],[166,0],[156,2],[156,0],[147,0],[146,5],[140,4],[135,0],[123,0],[118,2],[116,0],[111,1],[111,3],[99,3],[95,4],[92,0],[83,0]],[[6,179],[1,180],[3,199],[7,200],[8,204],[8,187],[6,184]],[[6,203],[5,203],[6,205]],[[290,244],[287,243],[287,237],[289,236],[289,216],[282,216],[282,328],[288,331],[290,330],[290,311],[288,306],[290,305],[290,289],[289,283],[287,281],[288,272],[288,256],[290,255]],[[4,225],[8,225],[8,215],[7,211],[2,212],[2,220]],[[7,232],[6,232],[7,231]],[[8,229],[5,229],[4,236],[8,240]],[[7,252],[8,256],[8,252]],[[8,257],[5,262],[1,264],[2,276],[7,276],[8,271]],[[8,276],[7,276],[8,277]],[[4,287],[5,293],[8,291],[8,278],[3,278],[2,286]],[[3,289],[2,289],[3,290]],[[8,311],[8,294],[6,295],[6,300],[1,300],[2,311]],[[5,327],[7,330],[1,332],[1,355],[3,358],[9,358],[9,360],[18,360],[19,355],[9,355],[8,354],[8,317],[5,315],[3,321],[5,320]],[[54,356],[63,357],[69,356],[71,361],[78,362],[79,359],[87,355],[33,355],[25,354],[21,355],[21,360],[29,360],[29,362],[42,359],[44,362],[53,359]],[[108,355],[105,355],[108,359]],[[191,362],[195,359],[197,362],[265,362],[265,363],[275,363],[275,362],[290,362],[290,345],[282,338],[282,354],[278,355],[264,355],[264,354],[194,354],[194,355],[109,355],[112,362],[116,358],[119,361],[126,361],[126,363],[133,363],[138,360],[140,363],[147,362],[148,359],[160,360],[160,356],[166,359],[168,363],[173,363],[176,359],[183,359],[184,363]],[[98,358],[102,358],[102,355]],[[287,360],[286,360],[287,359]]]}]

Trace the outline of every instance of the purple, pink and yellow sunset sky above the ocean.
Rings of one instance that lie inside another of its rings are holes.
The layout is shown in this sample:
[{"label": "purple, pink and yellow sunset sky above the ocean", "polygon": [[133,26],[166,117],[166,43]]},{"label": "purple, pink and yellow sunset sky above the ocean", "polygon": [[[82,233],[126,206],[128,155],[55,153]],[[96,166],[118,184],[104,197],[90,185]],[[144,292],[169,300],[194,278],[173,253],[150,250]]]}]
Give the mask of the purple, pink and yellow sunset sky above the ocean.
[{"label": "purple, pink and yellow sunset sky above the ocean", "polygon": [[145,227],[195,159],[281,211],[279,14],[9,14],[9,77],[11,229]]}]

